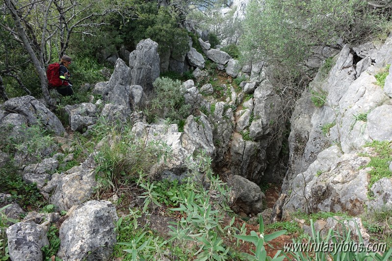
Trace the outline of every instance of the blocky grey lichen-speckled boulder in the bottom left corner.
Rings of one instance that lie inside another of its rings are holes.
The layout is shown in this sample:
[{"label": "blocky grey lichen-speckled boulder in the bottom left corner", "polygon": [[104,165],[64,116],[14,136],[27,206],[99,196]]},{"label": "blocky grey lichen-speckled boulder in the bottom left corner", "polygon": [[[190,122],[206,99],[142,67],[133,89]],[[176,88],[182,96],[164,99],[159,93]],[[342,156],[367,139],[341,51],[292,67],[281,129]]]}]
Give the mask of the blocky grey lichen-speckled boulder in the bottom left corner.
[{"label": "blocky grey lichen-speckled boulder in the bottom left corner", "polygon": [[41,248],[49,245],[47,232],[46,226],[26,222],[7,228],[8,251],[11,260],[42,261]]}]

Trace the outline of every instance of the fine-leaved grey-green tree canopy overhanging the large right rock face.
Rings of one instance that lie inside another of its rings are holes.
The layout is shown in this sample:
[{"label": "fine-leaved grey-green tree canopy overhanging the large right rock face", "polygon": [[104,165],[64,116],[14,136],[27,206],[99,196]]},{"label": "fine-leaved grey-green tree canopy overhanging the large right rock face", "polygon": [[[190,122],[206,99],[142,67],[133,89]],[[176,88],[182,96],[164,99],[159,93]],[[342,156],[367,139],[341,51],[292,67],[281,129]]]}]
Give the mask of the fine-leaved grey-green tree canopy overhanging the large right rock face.
[{"label": "fine-leaved grey-green tree canopy overhanging the large right rock face", "polygon": [[363,0],[252,1],[246,14],[240,39],[245,60],[276,59],[292,71],[313,55],[314,46],[368,41],[390,24],[391,15]]}]

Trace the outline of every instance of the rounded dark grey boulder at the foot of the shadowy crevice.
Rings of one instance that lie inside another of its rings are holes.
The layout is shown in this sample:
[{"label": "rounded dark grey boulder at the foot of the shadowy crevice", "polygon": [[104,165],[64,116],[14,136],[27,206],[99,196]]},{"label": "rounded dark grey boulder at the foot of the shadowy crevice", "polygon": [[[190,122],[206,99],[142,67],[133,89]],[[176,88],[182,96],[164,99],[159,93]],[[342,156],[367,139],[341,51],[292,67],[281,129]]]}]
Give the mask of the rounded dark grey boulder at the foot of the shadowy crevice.
[{"label": "rounded dark grey boulder at the foot of the shadowy crevice", "polygon": [[232,209],[236,213],[258,214],[261,212],[264,193],[260,186],[238,175],[230,176],[228,185],[231,187],[230,201],[234,204]]}]

